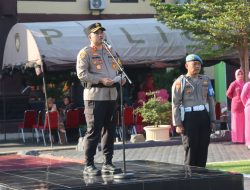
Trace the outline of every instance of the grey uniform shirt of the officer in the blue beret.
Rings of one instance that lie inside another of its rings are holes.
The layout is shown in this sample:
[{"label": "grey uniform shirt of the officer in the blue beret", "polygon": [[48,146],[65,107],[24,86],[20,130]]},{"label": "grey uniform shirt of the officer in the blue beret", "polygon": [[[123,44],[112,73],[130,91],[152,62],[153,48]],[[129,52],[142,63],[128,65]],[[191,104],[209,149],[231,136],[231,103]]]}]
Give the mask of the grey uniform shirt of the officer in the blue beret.
[{"label": "grey uniform shirt of the officer in the blue beret", "polygon": [[210,121],[215,121],[214,91],[209,77],[198,75],[196,80],[189,76],[179,76],[172,85],[173,125],[182,124],[181,106],[192,107],[206,105],[209,108]]}]

